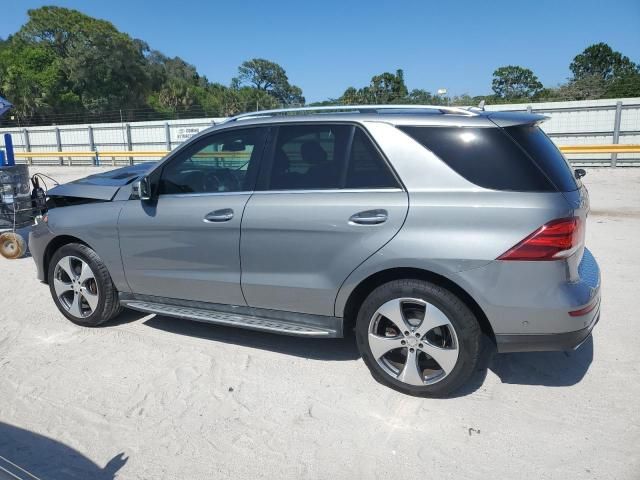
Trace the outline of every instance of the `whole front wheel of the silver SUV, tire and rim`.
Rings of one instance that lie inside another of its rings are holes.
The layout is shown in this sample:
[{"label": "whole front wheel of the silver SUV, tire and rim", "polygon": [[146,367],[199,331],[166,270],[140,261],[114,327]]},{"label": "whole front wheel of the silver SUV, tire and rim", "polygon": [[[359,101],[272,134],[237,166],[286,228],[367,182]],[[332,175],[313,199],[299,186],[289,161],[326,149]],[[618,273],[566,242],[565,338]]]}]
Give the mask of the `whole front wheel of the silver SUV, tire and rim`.
[{"label": "whole front wheel of the silver SUV, tire and rim", "polygon": [[107,267],[86,245],[71,243],[56,251],[48,281],[56,306],[73,323],[95,327],[120,312]]}]

